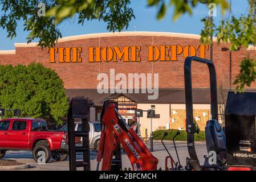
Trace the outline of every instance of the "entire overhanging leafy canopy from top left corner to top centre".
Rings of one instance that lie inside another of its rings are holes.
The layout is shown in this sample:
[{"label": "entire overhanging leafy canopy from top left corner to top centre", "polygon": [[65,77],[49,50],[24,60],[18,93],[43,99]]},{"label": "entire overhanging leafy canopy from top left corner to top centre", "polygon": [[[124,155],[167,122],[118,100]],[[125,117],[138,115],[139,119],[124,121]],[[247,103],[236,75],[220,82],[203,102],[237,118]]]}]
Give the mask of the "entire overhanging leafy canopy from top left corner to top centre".
[{"label": "entire overhanging leafy canopy from top left corner to top centre", "polygon": [[[46,17],[38,16],[38,4],[46,5]],[[128,27],[133,15],[129,0],[0,0],[3,15],[0,27],[6,29],[11,39],[17,36],[19,20],[23,20],[24,31],[29,31],[27,43],[39,38],[39,46],[50,47],[62,38],[55,23],[78,14],[78,23],[85,20],[103,20],[109,31],[121,31]],[[0,6],[0,7],[1,7]]]}]

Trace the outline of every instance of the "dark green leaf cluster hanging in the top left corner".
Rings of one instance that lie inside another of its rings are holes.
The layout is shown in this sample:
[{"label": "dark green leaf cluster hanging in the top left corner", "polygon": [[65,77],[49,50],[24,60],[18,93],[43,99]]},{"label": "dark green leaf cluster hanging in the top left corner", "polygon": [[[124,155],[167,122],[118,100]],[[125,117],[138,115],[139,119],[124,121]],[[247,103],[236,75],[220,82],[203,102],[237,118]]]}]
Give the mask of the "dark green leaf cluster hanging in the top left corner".
[{"label": "dark green leaf cluster hanging in the top left corner", "polygon": [[39,38],[39,46],[47,47],[54,45],[55,40],[62,35],[54,24],[54,17],[39,17],[38,3],[46,4],[46,10],[55,5],[55,1],[35,1],[35,0],[0,0],[3,15],[0,19],[0,27],[6,29],[8,37],[11,39],[17,36],[16,28],[19,20],[23,20],[24,31],[29,31],[27,43]]}]

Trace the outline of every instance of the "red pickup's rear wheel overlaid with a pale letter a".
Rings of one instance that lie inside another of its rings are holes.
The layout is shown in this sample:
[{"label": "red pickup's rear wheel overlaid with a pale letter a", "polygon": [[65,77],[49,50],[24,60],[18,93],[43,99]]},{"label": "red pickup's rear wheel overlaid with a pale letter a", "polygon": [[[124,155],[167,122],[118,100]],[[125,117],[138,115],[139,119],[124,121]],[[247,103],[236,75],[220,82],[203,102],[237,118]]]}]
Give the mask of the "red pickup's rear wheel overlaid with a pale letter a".
[{"label": "red pickup's rear wheel overlaid with a pale letter a", "polygon": [[[47,163],[51,159],[51,150],[46,144],[38,143],[33,149],[33,158],[35,162]],[[45,160],[44,160],[44,156]]]}]

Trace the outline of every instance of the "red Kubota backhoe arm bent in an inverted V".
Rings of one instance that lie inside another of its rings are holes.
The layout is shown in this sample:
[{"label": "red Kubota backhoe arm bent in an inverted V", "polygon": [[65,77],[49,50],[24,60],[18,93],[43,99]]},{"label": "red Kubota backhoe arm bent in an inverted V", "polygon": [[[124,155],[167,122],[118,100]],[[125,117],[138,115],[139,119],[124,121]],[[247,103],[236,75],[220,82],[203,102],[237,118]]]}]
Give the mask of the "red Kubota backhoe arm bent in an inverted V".
[{"label": "red Kubota backhoe arm bent in an inverted V", "polygon": [[102,126],[100,146],[97,162],[102,159],[101,170],[111,169],[113,152],[122,144],[132,168],[135,171],[156,170],[158,159],[148,150],[147,146],[130,128],[115,108],[115,104],[109,104],[105,110]]}]

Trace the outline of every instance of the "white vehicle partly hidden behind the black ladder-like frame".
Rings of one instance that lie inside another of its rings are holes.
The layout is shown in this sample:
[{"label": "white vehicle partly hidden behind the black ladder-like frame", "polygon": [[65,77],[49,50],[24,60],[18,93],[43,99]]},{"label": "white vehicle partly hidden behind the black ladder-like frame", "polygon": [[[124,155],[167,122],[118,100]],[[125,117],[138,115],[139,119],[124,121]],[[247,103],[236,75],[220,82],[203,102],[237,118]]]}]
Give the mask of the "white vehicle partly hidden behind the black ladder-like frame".
[{"label": "white vehicle partly hidden behind the black ladder-like frame", "polygon": [[[99,149],[100,144],[100,133],[101,133],[101,127],[100,122],[89,122],[90,125],[90,133],[89,133],[89,141],[90,141],[90,148],[93,150]],[[81,122],[75,122],[75,131],[81,131],[82,130],[82,123]],[[64,125],[60,131],[68,131],[67,125]],[[81,137],[81,143],[82,143],[82,137]]]}]

